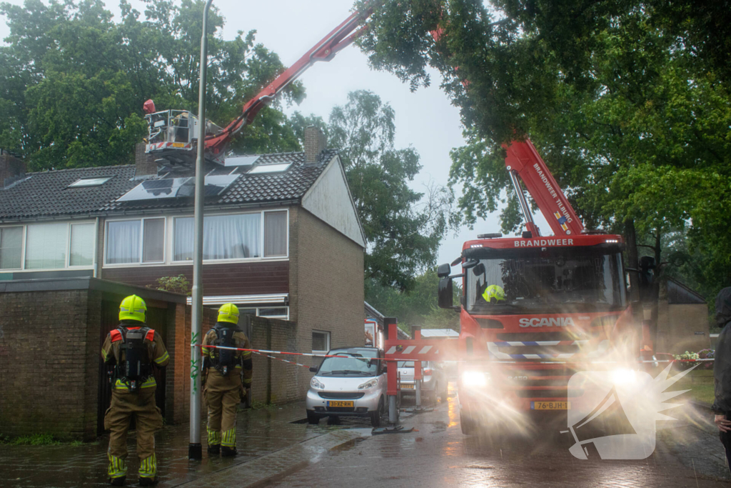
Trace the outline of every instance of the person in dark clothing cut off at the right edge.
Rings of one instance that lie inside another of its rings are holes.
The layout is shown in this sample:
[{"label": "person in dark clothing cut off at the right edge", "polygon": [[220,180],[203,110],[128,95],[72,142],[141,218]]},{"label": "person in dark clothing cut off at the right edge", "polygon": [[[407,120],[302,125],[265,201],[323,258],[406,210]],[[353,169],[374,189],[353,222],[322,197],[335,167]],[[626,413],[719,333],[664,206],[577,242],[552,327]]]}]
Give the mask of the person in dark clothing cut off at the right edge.
[{"label": "person in dark clothing cut off at the right edge", "polygon": [[719,437],[726,450],[727,465],[731,470],[731,287],[724,288],[716,296],[716,323],[722,328],[713,361],[714,421],[719,427]]}]

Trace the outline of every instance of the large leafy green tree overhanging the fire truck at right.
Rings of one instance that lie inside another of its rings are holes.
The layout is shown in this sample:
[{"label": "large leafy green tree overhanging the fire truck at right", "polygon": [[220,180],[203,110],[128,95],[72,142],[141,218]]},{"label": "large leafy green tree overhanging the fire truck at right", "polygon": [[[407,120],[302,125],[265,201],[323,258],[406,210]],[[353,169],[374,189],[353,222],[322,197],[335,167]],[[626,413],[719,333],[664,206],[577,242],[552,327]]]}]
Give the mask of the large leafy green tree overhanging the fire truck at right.
[{"label": "large leafy green tree overhanging the fire truck at right", "polygon": [[[500,145],[529,134],[588,226],[628,241],[687,226],[691,248],[713,257],[718,289],[731,284],[722,210],[731,208],[731,97],[727,66],[699,41],[717,21],[689,13],[689,3],[388,2],[360,45],[412,88],[429,83],[426,67],[439,70],[469,141],[452,151],[467,222],[510,197],[496,176]],[[728,42],[726,31],[714,42]],[[512,230],[520,220],[508,202]]]}]

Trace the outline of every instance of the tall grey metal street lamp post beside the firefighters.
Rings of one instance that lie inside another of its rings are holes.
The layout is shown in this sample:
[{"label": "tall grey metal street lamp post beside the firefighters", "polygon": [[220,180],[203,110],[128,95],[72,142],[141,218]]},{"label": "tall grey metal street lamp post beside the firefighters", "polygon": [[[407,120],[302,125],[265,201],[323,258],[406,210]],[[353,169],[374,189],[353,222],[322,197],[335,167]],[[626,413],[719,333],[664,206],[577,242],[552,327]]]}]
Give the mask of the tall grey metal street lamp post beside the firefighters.
[{"label": "tall grey metal street lamp post beside the firefighters", "polygon": [[208,67],[208,10],[213,0],[208,0],[203,9],[203,34],[200,38],[200,80],[198,83],[198,153],[195,159],[195,203],[193,247],[193,309],[190,341],[190,444],[188,459],[202,459],[203,449],[200,444],[200,372],[201,334],[203,322],[203,151],[205,149],[205,81]]}]

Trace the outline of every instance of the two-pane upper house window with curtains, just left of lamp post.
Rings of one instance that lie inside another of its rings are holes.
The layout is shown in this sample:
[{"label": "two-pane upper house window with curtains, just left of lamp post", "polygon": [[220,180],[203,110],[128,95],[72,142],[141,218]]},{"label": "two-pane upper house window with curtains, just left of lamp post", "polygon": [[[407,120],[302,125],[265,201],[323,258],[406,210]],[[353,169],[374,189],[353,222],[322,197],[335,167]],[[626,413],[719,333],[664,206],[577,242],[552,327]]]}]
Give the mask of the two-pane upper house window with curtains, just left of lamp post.
[{"label": "two-pane upper house window with curtains, just left of lamp post", "polygon": [[164,243],[164,217],[108,222],[106,263],[162,263]]}]

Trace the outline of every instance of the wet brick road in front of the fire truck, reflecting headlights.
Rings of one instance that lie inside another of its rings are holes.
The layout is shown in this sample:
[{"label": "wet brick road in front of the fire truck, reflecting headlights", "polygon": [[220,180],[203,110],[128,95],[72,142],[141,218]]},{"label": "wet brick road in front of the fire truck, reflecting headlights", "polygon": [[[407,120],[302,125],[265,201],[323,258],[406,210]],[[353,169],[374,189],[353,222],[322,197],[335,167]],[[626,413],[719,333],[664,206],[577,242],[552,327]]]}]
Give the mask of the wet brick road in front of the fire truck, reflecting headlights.
[{"label": "wet brick road in front of the fire truck, reflecting headlights", "polygon": [[[374,435],[330,451],[271,486],[367,487],[731,487],[708,410],[688,405],[658,422],[657,447],[642,461],[575,459],[570,438],[539,425],[527,437],[465,436],[455,398],[404,415],[404,434]],[[565,427],[564,427],[565,428]]]}]

